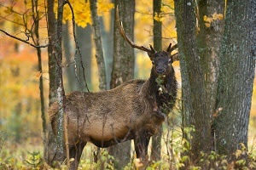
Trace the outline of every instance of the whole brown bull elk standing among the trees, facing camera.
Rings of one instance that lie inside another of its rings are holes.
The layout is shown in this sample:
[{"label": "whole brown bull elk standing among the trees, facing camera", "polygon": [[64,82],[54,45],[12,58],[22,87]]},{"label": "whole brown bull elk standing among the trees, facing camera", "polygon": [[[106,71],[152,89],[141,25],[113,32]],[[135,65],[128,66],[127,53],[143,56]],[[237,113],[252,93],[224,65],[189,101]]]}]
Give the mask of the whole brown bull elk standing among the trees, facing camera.
[{"label": "whole brown bull elk standing among the trees, facing camera", "polygon": [[[118,10],[117,10],[118,11]],[[119,14],[117,12],[119,22]],[[71,169],[79,164],[87,142],[106,148],[126,140],[134,140],[137,158],[146,159],[148,142],[161,123],[164,112],[175,105],[177,80],[172,62],[177,54],[171,54],[177,45],[157,52],[138,46],[125,35],[121,23],[119,32],[131,45],[148,53],[152,70],[148,80],[131,80],[117,88],[98,93],[73,92],[66,96],[67,133],[70,158],[75,158]],[[53,131],[57,130],[58,104],[49,108]]]}]

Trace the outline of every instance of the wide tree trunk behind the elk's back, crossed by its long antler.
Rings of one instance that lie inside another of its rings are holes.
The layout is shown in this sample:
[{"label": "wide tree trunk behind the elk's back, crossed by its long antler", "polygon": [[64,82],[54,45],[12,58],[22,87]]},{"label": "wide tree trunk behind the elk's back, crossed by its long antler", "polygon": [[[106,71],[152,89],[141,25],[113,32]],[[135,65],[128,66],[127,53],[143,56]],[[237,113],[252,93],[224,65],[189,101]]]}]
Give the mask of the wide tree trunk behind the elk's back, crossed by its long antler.
[{"label": "wide tree trunk behind the elk's back, crossed by its long antler", "polygon": [[[125,33],[133,41],[134,27],[134,0],[116,0],[116,7],[119,5],[119,18],[123,22]],[[114,20],[113,34],[113,71],[111,74],[110,88],[115,88],[123,82],[127,82],[134,77],[134,51],[131,46],[125,42],[124,38],[119,35],[118,26]],[[109,149],[111,155],[119,161],[116,168],[121,169],[131,159],[131,141],[117,144]]]}]

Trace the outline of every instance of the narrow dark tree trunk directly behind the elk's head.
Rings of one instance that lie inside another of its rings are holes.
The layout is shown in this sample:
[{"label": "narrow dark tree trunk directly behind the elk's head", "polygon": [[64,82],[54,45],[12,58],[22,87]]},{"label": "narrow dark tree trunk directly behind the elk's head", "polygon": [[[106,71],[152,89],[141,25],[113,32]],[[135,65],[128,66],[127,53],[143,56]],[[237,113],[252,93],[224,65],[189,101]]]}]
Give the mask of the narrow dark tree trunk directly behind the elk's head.
[{"label": "narrow dark tree trunk directly behind the elk's head", "polygon": [[[154,14],[160,15],[161,3],[161,0],[153,0],[153,18]],[[153,34],[154,49],[162,51],[162,23],[158,20],[154,20]],[[161,126],[159,132],[152,137],[151,159],[153,161],[160,160],[162,133],[163,127]]]}]

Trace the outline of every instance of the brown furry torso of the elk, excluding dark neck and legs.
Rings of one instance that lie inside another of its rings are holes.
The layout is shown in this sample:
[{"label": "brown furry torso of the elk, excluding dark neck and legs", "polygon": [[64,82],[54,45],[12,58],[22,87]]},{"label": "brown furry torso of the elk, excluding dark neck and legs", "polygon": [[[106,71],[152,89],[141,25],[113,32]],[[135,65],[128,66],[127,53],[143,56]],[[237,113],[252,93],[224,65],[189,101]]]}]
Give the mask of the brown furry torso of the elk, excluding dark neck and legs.
[{"label": "brown furry torso of the elk, excluding dark neck and legs", "polygon": [[[143,98],[147,83],[142,80],[126,82],[112,90],[99,93],[73,92],[67,94],[67,129],[69,144],[79,140],[102,146],[104,141],[134,139],[140,128],[148,128],[153,135],[164,120],[153,111],[153,105]],[[56,132],[55,103],[49,109],[50,122]],[[126,137],[126,138],[125,138]],[[103,142],[102,142],[103,141]]]}]

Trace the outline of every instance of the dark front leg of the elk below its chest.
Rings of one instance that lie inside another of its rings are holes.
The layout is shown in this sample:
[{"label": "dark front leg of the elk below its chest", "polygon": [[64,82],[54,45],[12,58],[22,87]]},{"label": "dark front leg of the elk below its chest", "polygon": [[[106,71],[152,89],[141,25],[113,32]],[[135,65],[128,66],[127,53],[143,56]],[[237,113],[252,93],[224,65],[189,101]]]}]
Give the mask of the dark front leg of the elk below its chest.
[{"label": "dark front leg of the elk below its chest", "polygon": [[134,139],[134,146],[137,158],[141,158],[142,161],[148,161],[148,143],[150,135],[147,132],[137,133]]}]

